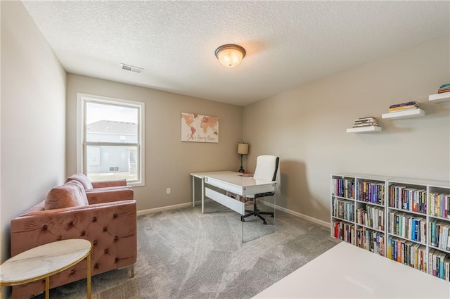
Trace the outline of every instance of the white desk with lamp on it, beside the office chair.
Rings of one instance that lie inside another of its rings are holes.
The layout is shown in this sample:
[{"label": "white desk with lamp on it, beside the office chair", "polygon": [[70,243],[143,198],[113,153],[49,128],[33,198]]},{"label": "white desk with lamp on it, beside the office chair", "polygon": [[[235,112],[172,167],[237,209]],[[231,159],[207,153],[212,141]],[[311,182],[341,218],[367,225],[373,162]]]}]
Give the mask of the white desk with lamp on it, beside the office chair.
[{"label": "white desk with lamp on it, beside the office chair", "polygon": [[220,171],[220,172],[193,172],[192,176],[192,205],[195,206],[195,178],[202,181],[202,212],[205,208],[205,196],[217,201],[227,208],[231,208],[240,215],[245,215],[244,203],[229,196],[205,188],[205,183],[240,196],[249,196],[255,193],[274,192],[276,182],[262,181],[253,177],[243,177],[240,172]]}]

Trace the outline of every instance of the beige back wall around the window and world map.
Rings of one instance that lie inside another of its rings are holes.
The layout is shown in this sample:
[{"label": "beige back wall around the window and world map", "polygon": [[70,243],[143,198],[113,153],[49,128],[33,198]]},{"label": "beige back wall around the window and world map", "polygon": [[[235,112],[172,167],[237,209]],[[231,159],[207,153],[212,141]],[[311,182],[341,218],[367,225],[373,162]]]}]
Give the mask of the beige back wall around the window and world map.
[{"label": "beige back wall around the window and world map", "polygon": [[[190,172],[239,169],[242,107],[68,74],[67,175],[77,171],[77,93],[146,104],[146,186],[134,188],[138,210],[192,201]],[[181,112],[219,116],[219,143],[181,142]],[[172,194],[166,195],[166,188]]]}]

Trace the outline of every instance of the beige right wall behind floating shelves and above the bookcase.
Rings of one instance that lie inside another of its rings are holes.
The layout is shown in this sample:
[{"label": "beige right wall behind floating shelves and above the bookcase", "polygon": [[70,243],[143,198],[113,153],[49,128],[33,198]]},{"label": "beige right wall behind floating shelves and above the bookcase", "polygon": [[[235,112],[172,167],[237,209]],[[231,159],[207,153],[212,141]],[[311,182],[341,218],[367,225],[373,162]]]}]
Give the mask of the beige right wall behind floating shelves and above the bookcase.
[{"label": "beige right wall behind floating shelves and above the bookcase", "polygon": [[[281,157],[278,205],[330,221],[330,174],[356,172],[450,179],[450,103],[428,95],[450,82],[449,37],[440,37],[365,65],[246,106],[244,138],[255,157]],[[390,105],[417,101],[424,117],[383,120]],[[383,127],[346,134],[358,117]]]}]

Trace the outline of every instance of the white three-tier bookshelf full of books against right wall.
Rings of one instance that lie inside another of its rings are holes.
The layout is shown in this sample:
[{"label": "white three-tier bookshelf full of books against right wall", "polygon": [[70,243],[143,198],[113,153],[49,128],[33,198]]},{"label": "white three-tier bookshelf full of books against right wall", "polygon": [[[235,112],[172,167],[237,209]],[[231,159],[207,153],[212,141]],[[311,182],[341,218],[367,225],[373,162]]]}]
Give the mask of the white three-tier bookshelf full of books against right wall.
[{"label": "white three-tier bookshelf full of books against right wall", "polygon": [[343,173],[330,186],[331,236],[450,281],[450,182]]}]

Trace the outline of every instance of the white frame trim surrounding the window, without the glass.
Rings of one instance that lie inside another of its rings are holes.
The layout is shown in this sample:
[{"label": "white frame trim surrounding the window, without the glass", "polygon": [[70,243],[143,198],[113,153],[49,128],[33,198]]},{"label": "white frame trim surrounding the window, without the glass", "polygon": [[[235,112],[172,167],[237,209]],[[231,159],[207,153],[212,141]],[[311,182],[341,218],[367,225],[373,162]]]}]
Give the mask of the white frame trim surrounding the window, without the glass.
[{"label": "white frame trim surrounding the window, without the glass", "polygon": [[84,161],[84,134],[86,134],[85,122],[85,106],[86,102],[104,103],[108,105],[120,104],[126,105],[139,110],[139,124],[138,124],[138,156],[139,156],[139,181],[129,182],[129,186],[145,186],[145,103],[137,101],[129,101],[121,98],[109,98],[107,96],[96,96],[92,94],[77,93],[77,172],[84,173],[86,161]]}]

